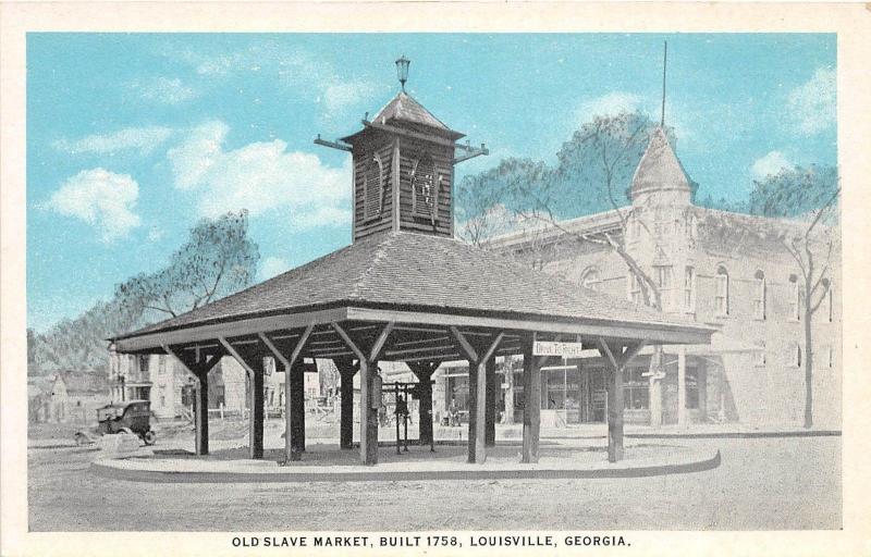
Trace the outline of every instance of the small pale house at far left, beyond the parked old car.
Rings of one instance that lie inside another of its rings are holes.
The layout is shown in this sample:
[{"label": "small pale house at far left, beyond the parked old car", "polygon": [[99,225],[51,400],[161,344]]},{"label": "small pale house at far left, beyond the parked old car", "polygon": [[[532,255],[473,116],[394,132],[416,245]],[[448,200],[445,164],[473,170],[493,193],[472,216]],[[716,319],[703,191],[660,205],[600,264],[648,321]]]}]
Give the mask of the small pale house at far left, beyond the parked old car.
[{"label": "small pale house at far left, beyond the parked old car", "polygon": [[102,373],[63,371],[27,382],[32,422],[87,422],[109,403],[109,383]]}]

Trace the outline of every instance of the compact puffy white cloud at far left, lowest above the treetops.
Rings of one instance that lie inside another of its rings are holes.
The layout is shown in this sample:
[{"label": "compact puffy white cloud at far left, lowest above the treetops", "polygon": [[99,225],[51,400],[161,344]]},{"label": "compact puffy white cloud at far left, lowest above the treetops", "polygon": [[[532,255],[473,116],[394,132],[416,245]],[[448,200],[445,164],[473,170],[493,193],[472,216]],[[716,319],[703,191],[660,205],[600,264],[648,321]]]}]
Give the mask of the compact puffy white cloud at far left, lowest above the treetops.
[{"label": "compact puffy white cloud at far left, lowest above the treetops", "polygon": [[138,197],[139,185],[131,176],[91,169],[68,178],[42,208],[85,221],[111,243],[139,225],[133,212]]}]

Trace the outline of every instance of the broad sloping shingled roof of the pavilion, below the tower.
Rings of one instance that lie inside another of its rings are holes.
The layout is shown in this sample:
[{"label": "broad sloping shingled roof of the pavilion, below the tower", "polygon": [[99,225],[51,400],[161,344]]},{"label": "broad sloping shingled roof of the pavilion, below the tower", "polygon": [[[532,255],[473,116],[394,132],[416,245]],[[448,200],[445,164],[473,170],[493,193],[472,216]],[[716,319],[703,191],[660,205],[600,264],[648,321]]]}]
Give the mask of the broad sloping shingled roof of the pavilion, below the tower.
[{"label": "broad sloping shingled roof of the pavilion, below the tower", "polygon": [[348,305],[689,325],[456,239],[391,232],[116,339]]}]

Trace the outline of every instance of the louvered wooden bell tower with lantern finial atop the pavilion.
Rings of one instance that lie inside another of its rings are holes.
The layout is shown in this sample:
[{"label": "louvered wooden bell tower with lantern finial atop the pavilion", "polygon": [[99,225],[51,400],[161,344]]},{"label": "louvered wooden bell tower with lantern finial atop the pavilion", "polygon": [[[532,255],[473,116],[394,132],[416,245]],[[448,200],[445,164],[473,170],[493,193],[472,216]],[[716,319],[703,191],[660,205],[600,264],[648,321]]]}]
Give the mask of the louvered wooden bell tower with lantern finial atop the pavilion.
[{"label": "louvered wooden bell tower with lantern finial atop the pavilion", "polygon": [[[410,62],[396,60],[400,92],[363,128],[318,145],[353,157],[353,239],[384,232],[416,232],[453,237],[454,164],[487,148],[456,144],[464,134],[449,128],[405,91]],[[465,150],[455,157],[456,149]]]}]

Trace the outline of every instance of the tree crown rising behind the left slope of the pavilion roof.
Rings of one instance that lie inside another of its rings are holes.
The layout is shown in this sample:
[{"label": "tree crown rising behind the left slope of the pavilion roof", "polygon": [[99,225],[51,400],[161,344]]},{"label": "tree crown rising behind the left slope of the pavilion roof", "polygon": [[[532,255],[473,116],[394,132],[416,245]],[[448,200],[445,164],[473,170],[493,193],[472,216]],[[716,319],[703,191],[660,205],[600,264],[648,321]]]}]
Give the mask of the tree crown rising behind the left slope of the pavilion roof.
[{"label": "tree crown rising behind the left slope of the pavilion roof", "polygon": [[247,211],[204,219],[167,267],[118,285],[115,297],[146,314],[174,318],[250,284],[259,259]]}]

